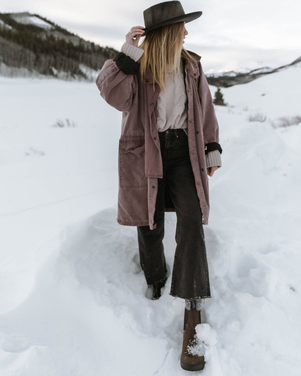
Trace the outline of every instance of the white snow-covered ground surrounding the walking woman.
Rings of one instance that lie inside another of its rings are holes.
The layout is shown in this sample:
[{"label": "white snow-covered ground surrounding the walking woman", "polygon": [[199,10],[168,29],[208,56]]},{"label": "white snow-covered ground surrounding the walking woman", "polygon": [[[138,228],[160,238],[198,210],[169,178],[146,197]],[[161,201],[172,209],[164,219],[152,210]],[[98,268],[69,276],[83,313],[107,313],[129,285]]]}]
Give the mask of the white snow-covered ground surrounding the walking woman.
[{"label": "white snow-covered ground surrounding the walking woman", "polygon": [[[216,106],[204,376],[301,374],[301,124],[269,121],[301,116],[300,70],[222,89]],[[184,302],[170,278],[145,297],[137,230],[116,222],[121,114],[94,83],[54,79],[1,77],[0,104],[0,374],[187,374]],[[175,224],[166,213],[169,269]]]}]

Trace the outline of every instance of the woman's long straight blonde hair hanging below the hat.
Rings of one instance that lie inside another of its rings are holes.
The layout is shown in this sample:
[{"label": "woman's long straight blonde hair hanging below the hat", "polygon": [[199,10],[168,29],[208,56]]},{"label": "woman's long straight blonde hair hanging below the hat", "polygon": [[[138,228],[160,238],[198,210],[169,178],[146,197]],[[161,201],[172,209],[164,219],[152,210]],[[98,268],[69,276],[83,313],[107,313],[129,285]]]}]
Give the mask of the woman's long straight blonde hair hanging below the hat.
[{"label": "woman's long straight blonde hair hanging below the hat", "polygon": [[[183,32],[185,22],[177,22],[163,26],[145,35],[143,42],[139,45],[144,50],[139,59],[142,82],[149,68],[160,89],[165,91],[166,74],[169,71],[171,76],[179,73],[181,58],[190,64],[192,56],[183,48]],[[173,68],[175,70],[173,70]],[[154,90],[155,90],[155,83]]]}]

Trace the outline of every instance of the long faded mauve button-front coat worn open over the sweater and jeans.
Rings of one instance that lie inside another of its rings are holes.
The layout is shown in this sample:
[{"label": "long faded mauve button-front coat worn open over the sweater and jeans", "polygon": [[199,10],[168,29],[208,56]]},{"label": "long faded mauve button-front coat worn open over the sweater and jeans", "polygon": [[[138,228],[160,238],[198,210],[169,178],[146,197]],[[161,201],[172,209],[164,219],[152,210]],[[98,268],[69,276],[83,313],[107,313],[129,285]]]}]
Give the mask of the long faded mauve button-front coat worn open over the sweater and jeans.
[{"label": "long faded mauve button-front coat worn open over the sweater and jeans", "polygon": [[[189,53],[195,59],[192,65],[184,61],[190,161],[203,224],[208,224],[209,191],[204,146],[219,142],[219,127],[201,57]],[[122,111],[117,222],[126,226],[149,225],[150,229],[155,229],[157,179],[163,177],[157,129],[160,87],[155,81],[153,89],[153,76],[149,70],[141,82],[140,69],[137,75],[125,74],[112,59],[103,65],[96,85],[103,99]],[[175,211],[167,190],[165,211]]]}]

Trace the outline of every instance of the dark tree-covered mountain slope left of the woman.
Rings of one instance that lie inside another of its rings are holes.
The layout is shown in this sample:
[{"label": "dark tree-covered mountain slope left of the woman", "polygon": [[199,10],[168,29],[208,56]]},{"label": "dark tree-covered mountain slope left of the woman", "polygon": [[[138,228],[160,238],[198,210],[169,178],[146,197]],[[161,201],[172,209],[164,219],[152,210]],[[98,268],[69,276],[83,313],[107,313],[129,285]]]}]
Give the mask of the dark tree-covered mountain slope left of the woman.
[{"label": "dark tree-covered mountain slope left of the woman", "polygon": [[[0,13],[0,74],[94,80],[117,53],[38,14]],[[21,73],[20,73],[21,72]],[[20,73],[20,74],[19,74]]]}]

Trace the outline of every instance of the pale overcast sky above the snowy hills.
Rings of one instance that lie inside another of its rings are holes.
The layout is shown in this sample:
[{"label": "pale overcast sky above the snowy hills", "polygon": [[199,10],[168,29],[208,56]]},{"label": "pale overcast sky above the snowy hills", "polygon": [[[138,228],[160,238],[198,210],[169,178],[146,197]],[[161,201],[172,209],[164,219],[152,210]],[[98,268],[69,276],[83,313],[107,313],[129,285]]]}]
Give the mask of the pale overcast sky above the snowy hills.
[{"label": "pale overcast sky above the snowy hills", "polygon": [[[144,26],[153,0],[2,0],[0,12],[37,13],[84,39],[120,49],[132,26]],[[278,67],[301,55],[301,1],[182,0],[185,13],[202,11],[186,25],[184,47],[202,56],[205,72]]]}]

